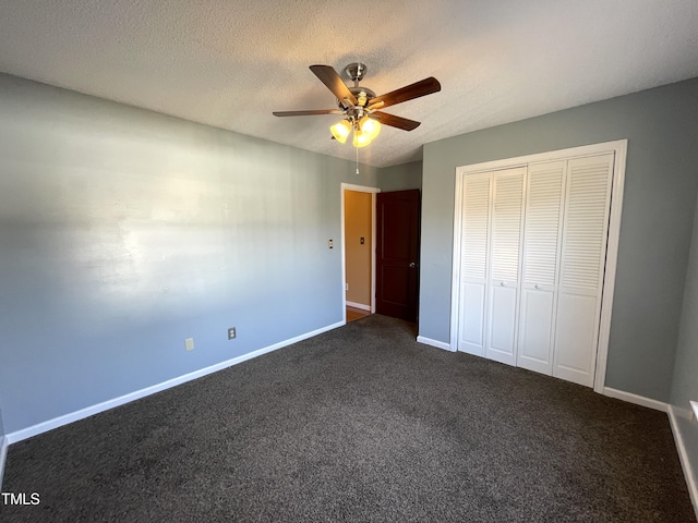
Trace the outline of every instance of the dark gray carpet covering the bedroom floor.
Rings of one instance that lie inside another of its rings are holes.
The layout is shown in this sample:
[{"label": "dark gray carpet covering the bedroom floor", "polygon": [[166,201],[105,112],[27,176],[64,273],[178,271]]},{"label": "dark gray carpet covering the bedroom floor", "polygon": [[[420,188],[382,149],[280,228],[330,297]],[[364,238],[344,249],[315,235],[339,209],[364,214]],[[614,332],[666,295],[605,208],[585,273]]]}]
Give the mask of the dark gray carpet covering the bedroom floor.
[{"label": "dark gray carpet covering the bedroom floor", "polygon": [[689,522],[665,414],[370,316],[10,448],[0,520]]}]

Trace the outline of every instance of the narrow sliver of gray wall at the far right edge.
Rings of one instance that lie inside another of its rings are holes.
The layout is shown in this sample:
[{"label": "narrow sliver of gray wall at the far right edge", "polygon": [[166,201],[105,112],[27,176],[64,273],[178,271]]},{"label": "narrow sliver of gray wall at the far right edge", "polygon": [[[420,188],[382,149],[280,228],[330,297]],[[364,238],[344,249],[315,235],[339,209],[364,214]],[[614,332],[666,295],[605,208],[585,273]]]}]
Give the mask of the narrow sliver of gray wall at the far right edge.
[{"label": "narrow sliver of gray wall at the far right edge", "polygon": [[678,331],[671,404],[674,408],[694,481],[698,483],[698,423],[689,417],[689,400],[698,401],[698,202]]}]

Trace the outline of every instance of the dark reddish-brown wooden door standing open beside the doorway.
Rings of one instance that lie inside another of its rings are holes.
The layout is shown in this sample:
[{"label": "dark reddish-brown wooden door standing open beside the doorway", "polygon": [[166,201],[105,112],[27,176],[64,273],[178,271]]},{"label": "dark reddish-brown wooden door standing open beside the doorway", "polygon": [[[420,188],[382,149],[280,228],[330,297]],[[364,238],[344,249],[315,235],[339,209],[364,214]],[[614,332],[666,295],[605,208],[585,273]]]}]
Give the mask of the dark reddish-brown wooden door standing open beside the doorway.
[{"label": "dark reddish-brown wooden door standing open beside the doorway", "polygon": [[375,312],[417,321],[419,291],[418,190],[378,193]]}]

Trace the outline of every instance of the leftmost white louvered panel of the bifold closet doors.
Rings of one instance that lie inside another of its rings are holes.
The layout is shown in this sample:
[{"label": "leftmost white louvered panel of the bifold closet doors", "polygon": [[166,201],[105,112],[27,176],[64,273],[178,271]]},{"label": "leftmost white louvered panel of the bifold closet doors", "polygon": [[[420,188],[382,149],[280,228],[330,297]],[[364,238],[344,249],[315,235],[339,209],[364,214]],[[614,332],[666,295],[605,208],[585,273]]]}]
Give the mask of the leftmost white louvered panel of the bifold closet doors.
[{"label": "leftmost white louvered panel of the bifold closet doors", "polygon": [[491,174],[464,177],[458,350],[484,355]]}]

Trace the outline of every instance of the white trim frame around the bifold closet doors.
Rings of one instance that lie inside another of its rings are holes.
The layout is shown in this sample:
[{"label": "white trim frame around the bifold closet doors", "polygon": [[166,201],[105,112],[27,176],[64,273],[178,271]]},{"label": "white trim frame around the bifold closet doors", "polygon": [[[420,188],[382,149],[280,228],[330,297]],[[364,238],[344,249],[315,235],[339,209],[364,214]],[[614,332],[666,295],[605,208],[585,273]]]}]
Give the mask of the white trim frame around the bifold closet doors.
[{"label": "white trim frame around the bifold closet doors", "polygon": [[458,323],[460,303],[460,236],[462,226],[462,179],[476,172],[522,167],[540,161],[554,161],[583,156],[595,156],[614,153],[613,186],[611,190],[611,216],[609,219],[609,239],[606,245],[606,265],[603,277],[603,294],[601,297],[601,320],[599,326],[599,344],[597,349],[597,364],[593,380],[594,392],[602,393],[606,378],[606,362],[609,358],[609,338],[611,335],[611,312],[613,308],[613,293],[615,290],[615,272],[618,258],[618,240],[621,235],[621,215],[623,210],[623,187],[625,184],[625,162],[627,156],[627,139],[605,142],[601,144],[552,150],[535,155],[519,156],[502,160],[486,161],[456,168],[456,198],[454,209],[454,251],[453,276],[450,290],[450,346],[458,350]]}]

